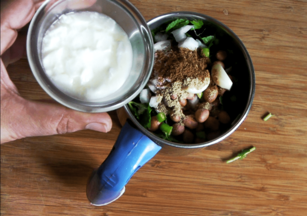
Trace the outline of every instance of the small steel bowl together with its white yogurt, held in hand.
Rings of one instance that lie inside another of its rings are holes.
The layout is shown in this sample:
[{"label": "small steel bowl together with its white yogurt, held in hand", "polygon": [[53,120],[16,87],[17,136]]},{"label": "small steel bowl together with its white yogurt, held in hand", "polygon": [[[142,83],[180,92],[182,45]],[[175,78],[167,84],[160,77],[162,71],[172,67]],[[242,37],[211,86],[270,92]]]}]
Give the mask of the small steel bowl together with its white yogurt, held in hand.
[{"label": "small steel bowl together with its white yogurt, held in hand", "polygon": [[57,102],[106,112],[146,85],[153,38],[128,1],[46,1],[29,25],[27,56],[37,82]]}]

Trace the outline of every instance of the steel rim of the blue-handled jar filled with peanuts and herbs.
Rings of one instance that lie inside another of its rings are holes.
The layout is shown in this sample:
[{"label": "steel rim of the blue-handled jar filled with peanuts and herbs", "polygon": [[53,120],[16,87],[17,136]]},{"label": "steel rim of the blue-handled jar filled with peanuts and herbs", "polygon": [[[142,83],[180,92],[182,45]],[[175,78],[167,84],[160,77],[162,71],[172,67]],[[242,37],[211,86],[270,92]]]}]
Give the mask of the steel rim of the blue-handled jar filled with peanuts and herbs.
[{"label": "steel rim of the blue-handled jar filled with peanuts and herbs", "polygon": [[134,115],[131,113],[128,105],[126,104],[124,106],[124,109],[125,109],[126,113],[128,114],[129,119],[146,136],[150,137],[150,139],[152,139],[155,143],[157,143],[158,145],[161,145],[162,147],[163,147],[163,145],[169,145],[169,146],[173,146],[173,147],[177,147],[177,148],[192,149],[192,148],[206,147],[206,146],[213,145],[213,144],[216,144],[216,143],[222,141],[223,139],[228,137],[231,133],[233,133],[242,124],[242,122],[245,120],[245,118],[247,117],[247,114],[249,113],[249,111],[251,109],[252,102],[253,102],[253,99],[254,99],[254,96],[255,96],[255,71],[254,71],[254,67],[253,67],[253,64],[252,64],[251,57],[250,57],[245,45],[243,44],[243,42],[239,39],[239,37],[229,27],[227,27],[227,25],[223,24],[222,22],[220,22],[220,21],[216,20],[215,18],[210,17],[208,15],[205,15],[205,14],[202,14],[202,13],[191,12],[191,11],[176,11],[176,12],[164,13],[164,14],[161,14],[157,17],[150,19],[147,22],[147,25],[150,27],[150,25],[152,25],[156,22],[159,22],[161,20],[164,20],[164,19],[170,19],[171,20],[171,19],[174,19],[174,18],[183,18],[183,17],[187,17],[187,16],[192,17],[192,18],[199,18],[199,19],[208,20],[208,21],[211,21],[212,23],[215,23],[217,25],[222,26],[224,31],[226,31],[236,41],[236,43],[240,45],[240,48],[243,51],[243,56],[245,57],[245,61],[247,63],[248,72],[250,74],[250,80],[249,81],[251,83],[251,87],[250,87],[249,93],[248,93],[247,106],[245,106],[245,109],[243,110],[241,117],[238,118],[238,119],[235,119],[233,121],[233,124],[231,125],[231,127],[225,133],[220,135],[219,137],[216,137],[213,140],[206,141],[204,143],[199,143],[199,144],[175,143],[175,142],[164,140],[164,139],[156,136],[154,133],[151,133],[149,130],[145,129],[136,120]]}]

